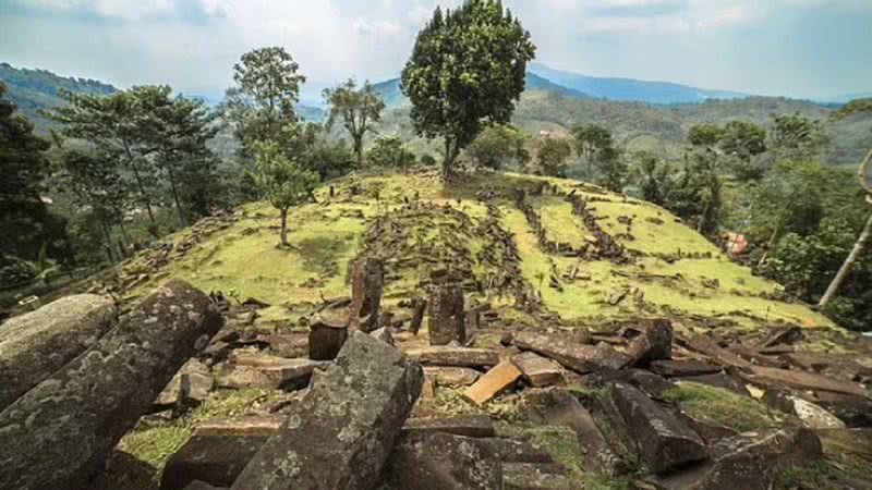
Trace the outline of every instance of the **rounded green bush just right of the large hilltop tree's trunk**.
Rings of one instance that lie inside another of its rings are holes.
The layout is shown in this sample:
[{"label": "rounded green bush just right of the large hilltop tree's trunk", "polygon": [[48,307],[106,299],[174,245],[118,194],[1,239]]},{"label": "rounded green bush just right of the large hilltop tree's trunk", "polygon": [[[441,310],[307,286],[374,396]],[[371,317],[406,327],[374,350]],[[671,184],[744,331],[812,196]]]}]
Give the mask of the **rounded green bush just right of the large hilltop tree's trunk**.
[{"label": "rounded green bush just right of the large hilltop tree's trunk", "polygon": [[523,168],[530,161],[526,135],[514,126],[493,124],[482,131],[467,148],[476,164],[487,169]]}]

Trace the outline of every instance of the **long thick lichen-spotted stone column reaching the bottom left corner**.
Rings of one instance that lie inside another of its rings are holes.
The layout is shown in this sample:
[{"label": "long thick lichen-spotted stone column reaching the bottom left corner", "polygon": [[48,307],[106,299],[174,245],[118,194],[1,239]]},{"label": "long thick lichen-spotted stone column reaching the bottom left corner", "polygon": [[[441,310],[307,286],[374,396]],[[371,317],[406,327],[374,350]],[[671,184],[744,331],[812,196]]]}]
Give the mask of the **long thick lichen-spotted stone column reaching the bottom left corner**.
[{"label": "long thick lichen-spotted stone column reaching the bottom left corner", "polygon": [[157,394],[221,327],[170,281],[96,344],[0,413],[0,488],[83,488]]}]

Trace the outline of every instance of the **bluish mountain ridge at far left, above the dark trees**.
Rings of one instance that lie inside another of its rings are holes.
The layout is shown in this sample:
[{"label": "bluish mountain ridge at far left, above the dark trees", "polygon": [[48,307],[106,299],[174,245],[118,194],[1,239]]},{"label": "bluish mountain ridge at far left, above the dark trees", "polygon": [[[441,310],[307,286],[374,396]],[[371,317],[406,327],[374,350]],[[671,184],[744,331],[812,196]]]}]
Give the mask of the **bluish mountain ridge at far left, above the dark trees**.
[{"label": "bluish mountain ridge at far left, above the dark trees", "polygon": [[59,88],[102,95],[118,91],[118,88],[96,79],[64,77],[47,70],[16,69],[9,63],[0,63],[0,82],[9,88],[9,99],[40,132],[47,131],[50,123],[37,111],[64,105],[63,99],[58,97]]}]

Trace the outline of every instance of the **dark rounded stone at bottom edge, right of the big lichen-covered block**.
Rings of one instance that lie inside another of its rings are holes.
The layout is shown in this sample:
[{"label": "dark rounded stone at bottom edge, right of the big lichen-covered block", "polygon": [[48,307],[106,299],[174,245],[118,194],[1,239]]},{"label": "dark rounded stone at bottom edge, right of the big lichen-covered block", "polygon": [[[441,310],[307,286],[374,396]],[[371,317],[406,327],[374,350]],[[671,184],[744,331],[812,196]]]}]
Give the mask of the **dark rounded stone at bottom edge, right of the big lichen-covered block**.
[{"label": "dark rounded stone at bottom edge, right of the big lichen-covered block", "polygon": [[502,464],[486,442],[443,432],[404,433],[390,454],[384,485],[395,490],[493,490]]}]

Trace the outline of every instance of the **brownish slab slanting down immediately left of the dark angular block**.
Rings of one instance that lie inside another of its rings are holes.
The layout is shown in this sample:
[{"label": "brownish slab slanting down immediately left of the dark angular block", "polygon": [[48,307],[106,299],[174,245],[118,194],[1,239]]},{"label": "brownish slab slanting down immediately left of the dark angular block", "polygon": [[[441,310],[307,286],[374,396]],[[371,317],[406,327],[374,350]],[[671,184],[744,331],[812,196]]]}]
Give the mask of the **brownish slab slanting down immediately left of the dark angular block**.
[{"label": "brownish slab slanting down immediately left of the dark angular block", "polygon": [[586,408],[564,390],[548,390],[541,395],[541,415],[549,425],[568,426],[576,432],[584,452],[584,466],[603,475],[617,475],[622,468],[596,421]]}]

